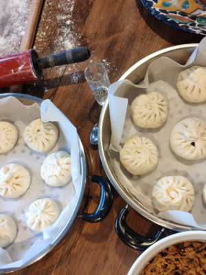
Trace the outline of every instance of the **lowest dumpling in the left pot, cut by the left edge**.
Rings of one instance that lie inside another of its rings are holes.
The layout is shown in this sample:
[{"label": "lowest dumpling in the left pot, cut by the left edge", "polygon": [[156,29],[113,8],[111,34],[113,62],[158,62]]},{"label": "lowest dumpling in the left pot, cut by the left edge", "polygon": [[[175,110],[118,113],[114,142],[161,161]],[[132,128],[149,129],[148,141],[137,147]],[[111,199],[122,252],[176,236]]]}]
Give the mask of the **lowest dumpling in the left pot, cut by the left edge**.
[{"label": "lowest dumpling in the left pot, cut by the left edge", "polygon": [[7,214],[0,214],[0,248],[10,245],[16,238],[16,224]]}]

